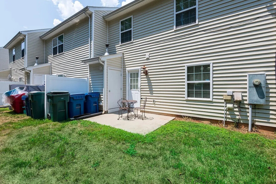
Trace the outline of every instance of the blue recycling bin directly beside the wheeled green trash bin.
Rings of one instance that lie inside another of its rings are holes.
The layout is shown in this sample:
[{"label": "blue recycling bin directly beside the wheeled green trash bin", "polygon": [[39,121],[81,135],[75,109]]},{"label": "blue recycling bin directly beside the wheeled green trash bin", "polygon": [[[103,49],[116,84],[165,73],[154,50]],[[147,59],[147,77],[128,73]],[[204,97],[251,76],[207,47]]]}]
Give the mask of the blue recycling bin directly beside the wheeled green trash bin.
[{"label": "blue recycling bin directly beside the wheeled green trash bin", "polygon": [[70,94],[68,102],[68,115],[69,118],[73,118],[77,115],[84,114],[84,93]]}]

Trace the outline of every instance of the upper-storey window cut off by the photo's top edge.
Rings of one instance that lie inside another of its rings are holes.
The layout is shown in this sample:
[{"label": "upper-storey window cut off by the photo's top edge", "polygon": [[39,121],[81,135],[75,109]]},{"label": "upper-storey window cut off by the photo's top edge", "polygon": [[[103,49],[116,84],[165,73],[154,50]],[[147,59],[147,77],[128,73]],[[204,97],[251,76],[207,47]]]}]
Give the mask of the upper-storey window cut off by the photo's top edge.
[{"label": "upper-storey window cut off by the photo's top edge", "polygon": [[174,0],[174,28],[198,23],[198,0]]}]

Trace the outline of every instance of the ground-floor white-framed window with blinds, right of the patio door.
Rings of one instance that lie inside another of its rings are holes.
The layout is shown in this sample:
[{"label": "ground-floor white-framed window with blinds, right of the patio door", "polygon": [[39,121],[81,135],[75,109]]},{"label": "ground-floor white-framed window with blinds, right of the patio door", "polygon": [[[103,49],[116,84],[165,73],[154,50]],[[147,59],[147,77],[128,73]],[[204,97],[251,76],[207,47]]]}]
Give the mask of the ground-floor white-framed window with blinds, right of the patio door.
[{"label": "ground-floor white-framed window with blinds, right of the patio door", "polygon": [[186,65],[185,97],[212,100],[212,63]]}]

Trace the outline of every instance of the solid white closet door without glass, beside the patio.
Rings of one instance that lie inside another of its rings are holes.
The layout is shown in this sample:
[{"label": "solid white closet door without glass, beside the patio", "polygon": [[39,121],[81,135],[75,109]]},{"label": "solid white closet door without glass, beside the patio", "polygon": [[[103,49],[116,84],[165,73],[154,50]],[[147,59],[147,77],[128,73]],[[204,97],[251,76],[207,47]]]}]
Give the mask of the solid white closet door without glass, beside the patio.
[{"label": "solid white closet door without glass, beside the patio", "polygon": [[110,113],[118,110],[117,102],[122,98],[121,70],[108,69],[107,76],[107,108]]}]

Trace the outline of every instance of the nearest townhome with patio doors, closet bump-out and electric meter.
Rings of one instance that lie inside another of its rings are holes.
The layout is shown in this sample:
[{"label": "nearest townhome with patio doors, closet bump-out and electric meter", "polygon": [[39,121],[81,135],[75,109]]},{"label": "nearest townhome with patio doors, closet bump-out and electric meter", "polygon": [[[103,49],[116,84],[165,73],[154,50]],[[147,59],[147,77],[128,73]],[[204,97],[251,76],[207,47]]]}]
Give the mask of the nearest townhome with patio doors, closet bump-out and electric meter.
[{"label": "nearest townhome with patio doors, closet bump-out and electric meter", "polygon": [[[121,97],[138,106],[147,98],[146,113],[275,131],[275,5],[135,0],[103,16],[110,55],[82,60],[89,64],[90,91],[102,88],[107,112],[117,110]],[[262,79],[253,85],[250,74]],[[251,89],[261,104],[250,102]]]}]

